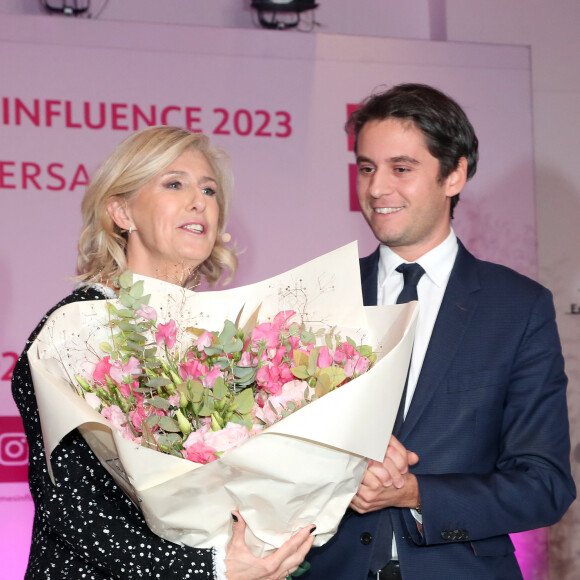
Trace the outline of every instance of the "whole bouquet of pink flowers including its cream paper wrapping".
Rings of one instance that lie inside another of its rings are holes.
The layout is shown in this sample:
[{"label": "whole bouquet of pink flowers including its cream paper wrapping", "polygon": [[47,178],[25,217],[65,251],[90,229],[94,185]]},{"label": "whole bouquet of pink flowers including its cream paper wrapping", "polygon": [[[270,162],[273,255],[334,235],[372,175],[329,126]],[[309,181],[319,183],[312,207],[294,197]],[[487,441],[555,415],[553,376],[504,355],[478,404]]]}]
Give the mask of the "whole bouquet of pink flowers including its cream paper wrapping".
[{"label": "whole bouquet of pink flowers including its cream paper wrapping", "polygon": [[384,457],[417,304],[363,307],[356,243],[231,290],[134,278],[28,351],[49,471],[78,429],[168,540],[225,545],[238,508],[256,555],[313,522],[324,544]]}]

